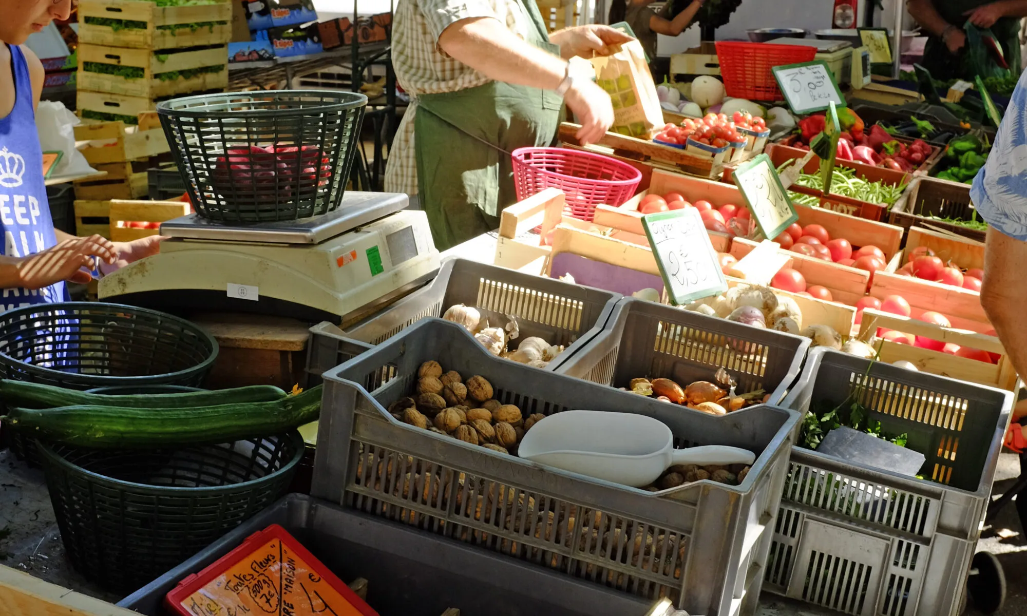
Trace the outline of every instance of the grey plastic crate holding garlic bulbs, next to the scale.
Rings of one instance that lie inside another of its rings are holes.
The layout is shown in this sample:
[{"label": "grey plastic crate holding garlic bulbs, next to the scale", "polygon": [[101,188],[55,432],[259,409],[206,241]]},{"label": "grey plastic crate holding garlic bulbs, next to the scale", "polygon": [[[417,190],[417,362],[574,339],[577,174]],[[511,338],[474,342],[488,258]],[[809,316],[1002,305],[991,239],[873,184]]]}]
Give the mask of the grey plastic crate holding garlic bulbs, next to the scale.
[{"label": "grey plastic crate holding garlic bulbs, next to the scale", "polygon": [[[521,338],[538,336],[567,349],[545,370],[555,371],[598,335],[620,294],[464,259],[443,262],[439,275],[387,309],[341,331],[330,323],[311,330],[307,372],[319,376],[355,355],[340,344],[351,339],[381,344],[428,316],[442,316],[456,304],[474,306],[490,322],[516,317]],[[516,343],[516,341],[515,341]]]}]

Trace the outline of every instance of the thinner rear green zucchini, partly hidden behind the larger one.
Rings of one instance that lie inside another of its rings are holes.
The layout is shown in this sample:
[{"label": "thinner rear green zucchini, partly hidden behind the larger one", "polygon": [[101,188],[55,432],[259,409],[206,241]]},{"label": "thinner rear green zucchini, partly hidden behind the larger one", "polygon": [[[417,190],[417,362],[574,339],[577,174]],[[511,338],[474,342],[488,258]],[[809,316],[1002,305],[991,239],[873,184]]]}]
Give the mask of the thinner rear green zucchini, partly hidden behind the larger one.
[{"label": "thinner rear green zucchini, partly hidden behind the larger one", "polygon": [[26,409],[83,406],[124,407],[127,409],[214,407],[216,405],[271,402],[279,400],[286,395],[284,391],[273,385],[251,385],[216,391],[105,395],[27,381],[0,381],[0,401],[8,407]]}]

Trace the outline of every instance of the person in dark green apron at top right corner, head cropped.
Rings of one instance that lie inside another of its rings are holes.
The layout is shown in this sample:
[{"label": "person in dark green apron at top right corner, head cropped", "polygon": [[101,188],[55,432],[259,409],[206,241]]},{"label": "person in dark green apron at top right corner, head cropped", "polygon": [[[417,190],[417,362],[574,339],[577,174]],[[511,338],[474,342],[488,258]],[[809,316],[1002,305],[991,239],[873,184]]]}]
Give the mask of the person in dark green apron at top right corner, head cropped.
[{"label": "person in dark green apron at top right corner, head cropped", "polygon": [[991,29],[1010,70],[1020,74],[1020,20],[1027,16],[1027,0],[908,0],[906,8],[931,35],[923,51],[923,66],[935,79],[974,79],[974,70],[964,64],[963,25],[967,21]]}]

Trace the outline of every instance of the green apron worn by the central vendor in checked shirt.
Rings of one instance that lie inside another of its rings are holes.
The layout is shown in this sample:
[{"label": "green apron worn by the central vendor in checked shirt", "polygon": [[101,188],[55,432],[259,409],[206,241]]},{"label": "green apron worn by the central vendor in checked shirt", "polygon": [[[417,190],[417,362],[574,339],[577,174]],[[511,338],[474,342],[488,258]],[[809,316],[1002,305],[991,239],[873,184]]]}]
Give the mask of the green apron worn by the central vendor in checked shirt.
[{"label": "green apron worn by the central vendor in checked shirt", "polygon": [[[534,25],[525,40],[560,55],[535,2],[519,3]],[[418,198],[435,247],[499,227],[499,213],[517,202],[510,152],[551,145],[563,104],[554,91],[499,81],[417,98]]]}]

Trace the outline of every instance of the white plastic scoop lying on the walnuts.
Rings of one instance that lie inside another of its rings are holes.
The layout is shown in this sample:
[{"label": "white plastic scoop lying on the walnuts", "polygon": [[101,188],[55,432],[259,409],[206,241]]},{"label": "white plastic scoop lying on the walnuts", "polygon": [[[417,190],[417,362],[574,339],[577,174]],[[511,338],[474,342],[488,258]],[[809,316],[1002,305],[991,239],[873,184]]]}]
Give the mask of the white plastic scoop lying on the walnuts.
[{"label": "white plastic scoop lying on the walnuts", "polygon": [[631,413],[565,411],[539,421],[521,440],[518,456],[633,488],[649,486],[675,464],[752,464],[753,452],[707,445],[674,449],[663,422]]}]

